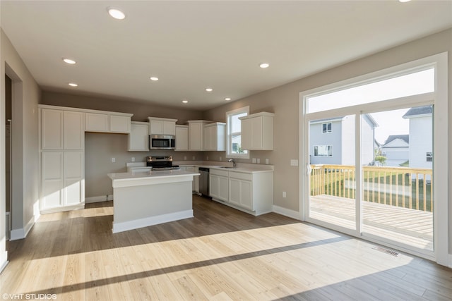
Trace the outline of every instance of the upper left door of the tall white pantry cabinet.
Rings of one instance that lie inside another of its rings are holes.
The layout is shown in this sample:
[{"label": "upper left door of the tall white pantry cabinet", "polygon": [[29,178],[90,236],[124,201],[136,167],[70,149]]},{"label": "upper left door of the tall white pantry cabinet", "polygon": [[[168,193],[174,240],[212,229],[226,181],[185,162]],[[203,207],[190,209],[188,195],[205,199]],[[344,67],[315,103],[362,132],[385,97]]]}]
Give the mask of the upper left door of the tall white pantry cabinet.
[{"label": "upper left door of the tall white pantry cabinet", "polygon": [[63,149],[63,111],[42,109],[42,149]]}]

